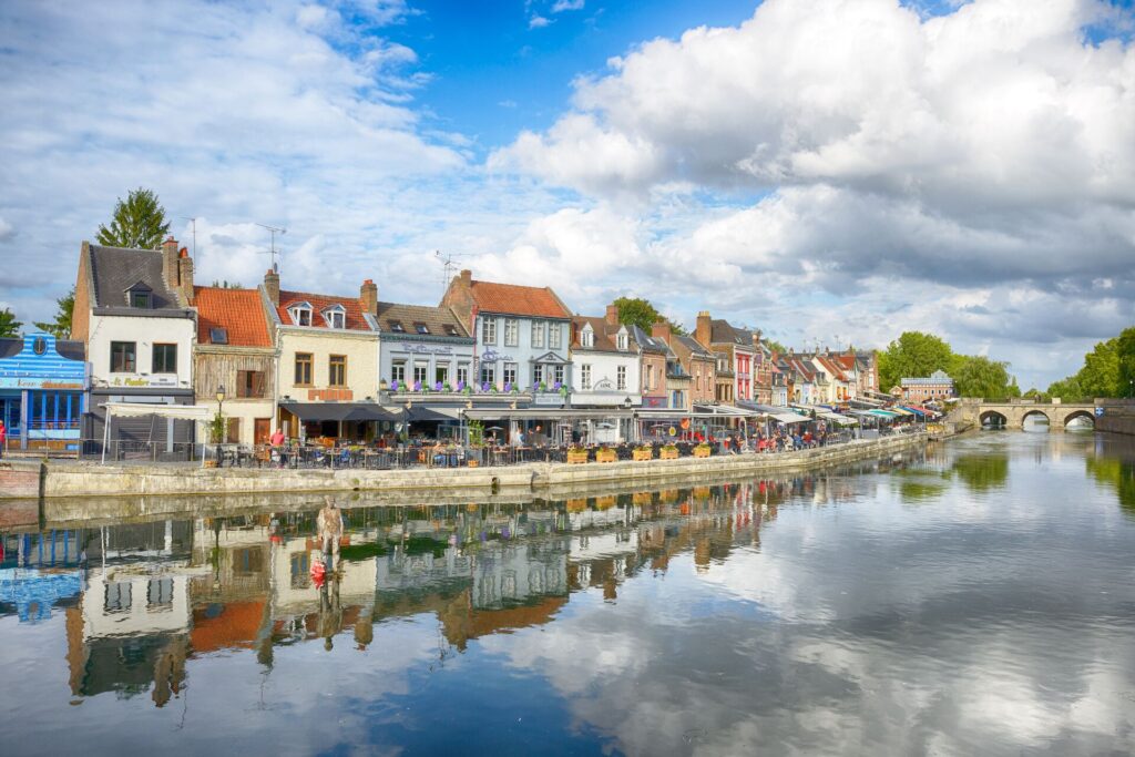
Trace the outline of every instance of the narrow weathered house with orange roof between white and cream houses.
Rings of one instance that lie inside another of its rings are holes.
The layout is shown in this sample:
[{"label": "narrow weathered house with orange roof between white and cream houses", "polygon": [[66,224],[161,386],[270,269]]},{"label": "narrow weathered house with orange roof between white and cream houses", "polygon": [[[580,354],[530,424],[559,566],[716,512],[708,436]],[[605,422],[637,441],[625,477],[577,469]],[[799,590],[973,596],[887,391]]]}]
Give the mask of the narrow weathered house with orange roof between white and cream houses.
[{"label": "narrow weathered house with orange roof between white and cream houses", "polygon": [[276,394],[276,345],[269,305],[259,289],[193,287],[197,342],[193,390],[200,404],[217,405],[224,389],[226,441],[264,444],[271,436]]}]

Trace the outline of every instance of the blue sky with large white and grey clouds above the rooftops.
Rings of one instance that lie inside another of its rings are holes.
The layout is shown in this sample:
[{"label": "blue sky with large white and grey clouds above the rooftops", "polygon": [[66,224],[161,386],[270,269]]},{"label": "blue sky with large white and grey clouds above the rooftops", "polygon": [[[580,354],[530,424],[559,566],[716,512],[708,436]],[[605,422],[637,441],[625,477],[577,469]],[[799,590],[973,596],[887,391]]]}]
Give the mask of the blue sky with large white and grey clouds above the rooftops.
[{"label": "blue sky with large white and grey clouds above the rooftops", "polygon": [[[1135,323],[1129,0],[0,3],[0,308],[118,197],[197,281],[446,269],[797,348],[903,330],[1022,388]],[[191,221],[190,219],[195,219]],[[195,229],[195,234],[194,234]]]}]

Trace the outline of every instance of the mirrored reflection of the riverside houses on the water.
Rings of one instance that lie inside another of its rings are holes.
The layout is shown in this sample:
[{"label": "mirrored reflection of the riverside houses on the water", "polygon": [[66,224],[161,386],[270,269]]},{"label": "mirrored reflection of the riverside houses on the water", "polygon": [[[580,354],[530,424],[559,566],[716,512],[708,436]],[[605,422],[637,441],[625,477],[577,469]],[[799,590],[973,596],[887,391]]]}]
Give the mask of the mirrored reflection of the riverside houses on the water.
[{"label": "mirrored reflection of the riverside houses on the water", "polygon": [[[199,656],[246,649],[271,666],[280,646],[350,633],[367,647],[375,624],[407,617],[432,617],[443,646],[461,650],[553,621],[575,591],[616,600],[624,581],[666,571],[680,554],[713,570],[734,548],[759,547],[762,524],[787,498],[839,494],[793,478],[526,506],[352,510],[325,591],[310,572],[313,513],[73,531],[56,536],[58,564],[36,562],[51,554],[47,535],[5,537],[17,557],[3,564],[0,602],[22,620],[39,607],[66,612],[74,695],[150,690],[162,706]],[[9,598],[33,589],[39,605]]]}]

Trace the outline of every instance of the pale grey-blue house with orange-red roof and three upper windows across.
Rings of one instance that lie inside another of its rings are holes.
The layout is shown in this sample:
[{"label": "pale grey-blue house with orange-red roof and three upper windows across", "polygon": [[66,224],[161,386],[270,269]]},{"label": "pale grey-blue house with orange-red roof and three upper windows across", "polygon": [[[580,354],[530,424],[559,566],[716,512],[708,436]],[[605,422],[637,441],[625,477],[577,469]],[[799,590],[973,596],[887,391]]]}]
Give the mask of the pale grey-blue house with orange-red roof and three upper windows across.
[{"label": "pale grey-blue house with orange-red roof and three upper windows across", "polygon": [[479,281],[463,270],[449,283],[442,305],[453,309],[476,338],[473,376],[479,384],[536,387],[537,404],[563,404],[558,388],[571,386],[571,311],[555,292]]}]

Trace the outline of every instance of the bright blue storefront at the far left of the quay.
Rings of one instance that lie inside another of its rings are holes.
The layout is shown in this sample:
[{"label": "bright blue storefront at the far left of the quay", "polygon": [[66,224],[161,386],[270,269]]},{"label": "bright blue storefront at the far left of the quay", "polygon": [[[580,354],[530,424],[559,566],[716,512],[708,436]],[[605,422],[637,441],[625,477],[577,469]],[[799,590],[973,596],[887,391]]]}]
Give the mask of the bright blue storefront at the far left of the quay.
[{"label": "bright blue storefront at the far left of the quay", "polygon": [[8,449],[77,451],[91,371],[82,342],[0,339],[0,420]]}]

